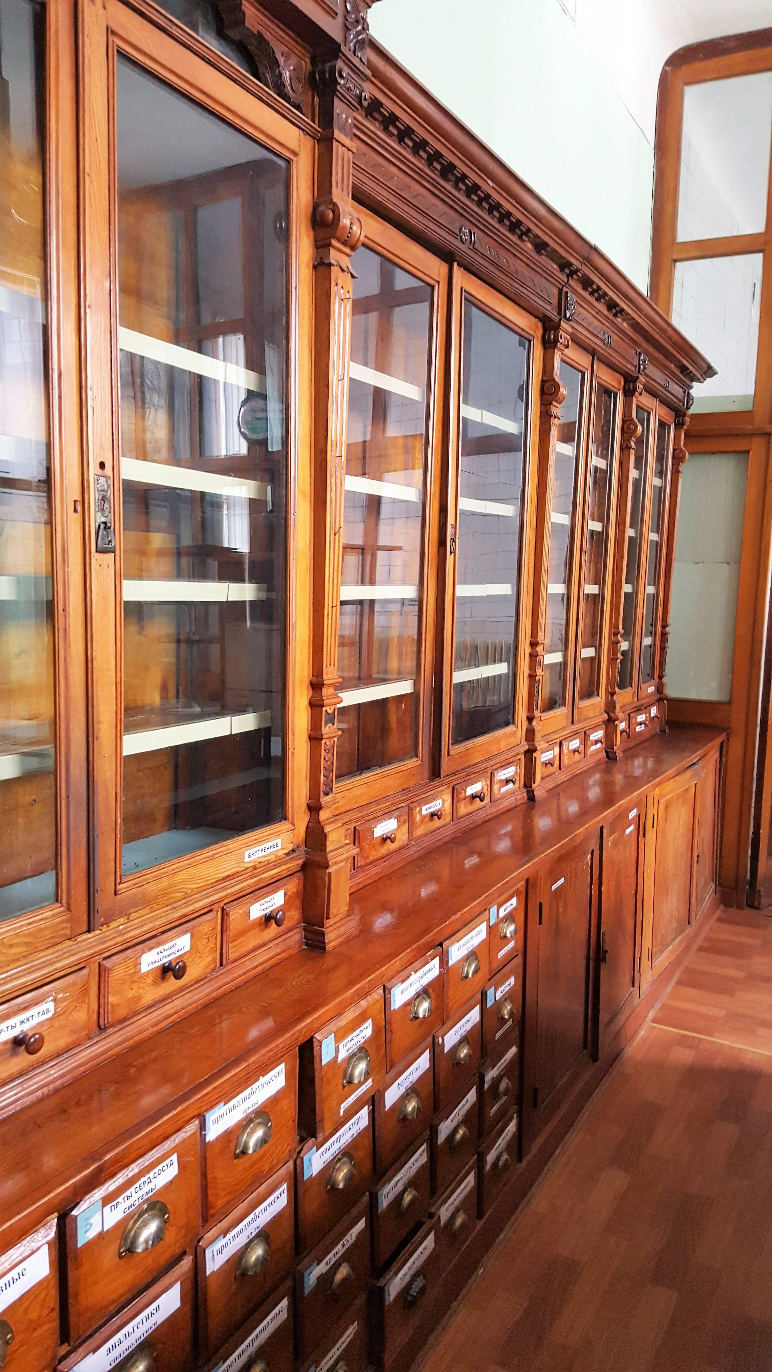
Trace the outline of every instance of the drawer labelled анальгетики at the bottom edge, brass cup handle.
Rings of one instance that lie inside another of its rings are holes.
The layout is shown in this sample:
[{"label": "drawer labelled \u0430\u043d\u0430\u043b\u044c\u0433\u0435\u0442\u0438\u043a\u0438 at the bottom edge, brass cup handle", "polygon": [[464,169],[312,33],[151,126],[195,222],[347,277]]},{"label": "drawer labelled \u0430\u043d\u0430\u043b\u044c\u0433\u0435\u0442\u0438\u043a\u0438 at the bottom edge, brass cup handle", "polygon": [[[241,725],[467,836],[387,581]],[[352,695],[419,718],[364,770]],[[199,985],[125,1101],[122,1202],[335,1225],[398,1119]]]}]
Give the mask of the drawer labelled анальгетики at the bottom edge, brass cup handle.
[{"label": "drawer labelled \u0430\u043d\u0430\u043b\u044c\u0433\u0435\u0442\u0438\u043a\u0438 at the bottom edge, brass cup handle", "polygon": [[[157,1372],[190,1372],[194,1365],[194,1259],[181,1258],[148,1291],[143,1291],[76,1353],[59,1364],[59,1372],[96,1372],[98,1368],[130,1368],[140,1343]],[[121,1354],[115,1362],[115,1354]],[[18,1372],[8,1367],[8,1372]]]}]

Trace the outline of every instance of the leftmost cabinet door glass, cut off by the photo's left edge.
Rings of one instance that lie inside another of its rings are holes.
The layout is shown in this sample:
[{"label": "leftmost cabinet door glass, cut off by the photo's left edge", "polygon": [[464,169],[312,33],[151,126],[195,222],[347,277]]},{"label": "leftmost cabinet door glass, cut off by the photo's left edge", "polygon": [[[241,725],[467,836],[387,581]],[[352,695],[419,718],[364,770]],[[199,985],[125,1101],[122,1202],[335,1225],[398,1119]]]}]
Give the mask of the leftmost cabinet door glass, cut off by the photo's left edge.
[{"label": "leftmost cabinet door glass, cut off by the photo's left edge", "polygon": [[43,36],[0,0],[0,921],[56,899]]}]

